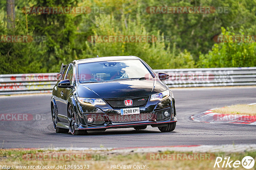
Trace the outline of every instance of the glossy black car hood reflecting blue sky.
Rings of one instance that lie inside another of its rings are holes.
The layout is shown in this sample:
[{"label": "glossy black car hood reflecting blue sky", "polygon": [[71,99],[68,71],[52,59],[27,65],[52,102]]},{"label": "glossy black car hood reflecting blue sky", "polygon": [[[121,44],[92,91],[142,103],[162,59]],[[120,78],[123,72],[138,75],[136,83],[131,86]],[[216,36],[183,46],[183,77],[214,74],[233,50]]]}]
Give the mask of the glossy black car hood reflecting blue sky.
[{"label": "glossy black car hood reflecting blue sky", "polygon": [[159,79],[122,80],[79,84],[77,94],[88,98],[118,98],[152,95],[166,89]]}]

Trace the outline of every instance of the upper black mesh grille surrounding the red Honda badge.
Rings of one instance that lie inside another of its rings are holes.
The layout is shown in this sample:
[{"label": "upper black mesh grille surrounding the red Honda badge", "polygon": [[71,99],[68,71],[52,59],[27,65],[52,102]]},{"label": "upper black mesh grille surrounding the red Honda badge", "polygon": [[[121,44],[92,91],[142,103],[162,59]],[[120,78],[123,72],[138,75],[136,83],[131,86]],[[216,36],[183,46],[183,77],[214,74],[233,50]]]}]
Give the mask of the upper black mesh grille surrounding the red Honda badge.
[{"label": "upper black mesh grille surrounding the red Honda badge", "polygon": [[144,96],[144,97],[134,97],[134,98],[123,98],[123,99],[105,99],[108,104],[112,108],[124,108],[127,107],[124,105],[125,100],[132,99],[132,107],[140,107],[140,106],[145,106],[147,101],[148,101],[149,96]]}]

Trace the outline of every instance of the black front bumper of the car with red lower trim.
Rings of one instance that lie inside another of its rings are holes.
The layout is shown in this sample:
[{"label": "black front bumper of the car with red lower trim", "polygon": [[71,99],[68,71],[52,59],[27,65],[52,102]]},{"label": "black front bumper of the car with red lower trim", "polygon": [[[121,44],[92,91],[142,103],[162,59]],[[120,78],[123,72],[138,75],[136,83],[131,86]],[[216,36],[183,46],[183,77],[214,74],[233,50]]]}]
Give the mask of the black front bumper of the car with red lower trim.
[{"label": "black front bumper of the car with red lower trim", "polygon": [[[168,123],[177,122],[174,103],[175,101],[171,97],[158,103],[148,102],[146,106],[140,107],[140,114],[135,115],[121,115],[120,109],[112,109],[109,106],[97,109],[94,107],[89,110],[89,107],[77,105],[82,113],[79,114],[80,121],[76,122],[76,130],[129,128],[142,125],[164,126]],[[164,116],[166,110],[170,112],[167,117]],[[94,122],[88,123],[88,117],[92,117]]]}]

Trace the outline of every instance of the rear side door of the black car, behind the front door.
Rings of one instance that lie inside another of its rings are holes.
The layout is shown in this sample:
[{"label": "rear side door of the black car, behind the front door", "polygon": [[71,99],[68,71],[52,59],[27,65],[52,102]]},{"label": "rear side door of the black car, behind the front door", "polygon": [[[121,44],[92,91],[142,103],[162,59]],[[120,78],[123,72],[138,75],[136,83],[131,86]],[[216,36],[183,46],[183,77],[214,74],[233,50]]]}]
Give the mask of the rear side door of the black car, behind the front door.
[{"label": "rear side door of the black car, behind the front door", "polygon": [[[68,73],[68,68],[70,65],[67,65],[61,76],[60,79],[58,81],[58,83],[62,80],[65,80],[66,78],[66,74]],[[63,88],[59,88],[58,86],[55,87],[56,88],[56,92],[55,92],[55,96],[54,99],[56,101],[56,106],[57,106],[57,110],[58,110],[58,119],[60,120],[60,122],[67,122],[67,116],[65,116],[65,108],[63,108],[63,95],[64,95],[64,91]]]}]

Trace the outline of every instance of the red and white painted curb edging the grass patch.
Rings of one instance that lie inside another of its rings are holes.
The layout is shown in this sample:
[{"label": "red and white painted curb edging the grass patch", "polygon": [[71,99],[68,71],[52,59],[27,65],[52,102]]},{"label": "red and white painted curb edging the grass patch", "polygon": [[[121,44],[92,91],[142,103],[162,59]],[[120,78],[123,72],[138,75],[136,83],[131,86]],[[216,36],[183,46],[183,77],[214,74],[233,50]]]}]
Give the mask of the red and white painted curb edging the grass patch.
[{"label": "red and white painted curb edging the grass patch", "polygon": [[[254,104],[256,103],[251,103],[248,105],[254,105]],[[212,111],[215,109],[219,109],[219,108],[210,109],[198,115],[192,115],[190,118],[196,122],[205,122],[205,123],[215,123],[215,124],[232,123],[232,124],[256,125],[256,116],[215,113]]]}]

